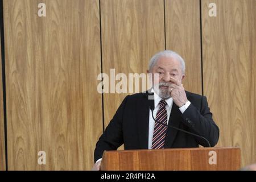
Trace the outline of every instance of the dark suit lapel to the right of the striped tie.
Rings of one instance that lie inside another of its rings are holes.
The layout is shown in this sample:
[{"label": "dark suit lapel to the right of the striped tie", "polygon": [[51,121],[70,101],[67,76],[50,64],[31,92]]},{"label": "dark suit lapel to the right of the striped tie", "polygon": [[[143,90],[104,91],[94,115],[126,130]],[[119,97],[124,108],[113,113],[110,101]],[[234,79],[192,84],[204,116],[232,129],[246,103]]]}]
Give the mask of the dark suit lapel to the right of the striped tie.
[{"label": "dark suit lapel to the right of the striped tie", "polygon": [[[181,121],[181,113],[179,111],[179,107],[174,103],[172,105],[172,110],[170,114],[170,118],[168,121],[168,125],[178,127],[180,126]],[[164,148],[171,148],[172,144],[174,143],[174,139],[176,137],[177,130],[172,129],[171,127],[168,127],[167,133],[166,133],[166,142],[164,144]]]}]

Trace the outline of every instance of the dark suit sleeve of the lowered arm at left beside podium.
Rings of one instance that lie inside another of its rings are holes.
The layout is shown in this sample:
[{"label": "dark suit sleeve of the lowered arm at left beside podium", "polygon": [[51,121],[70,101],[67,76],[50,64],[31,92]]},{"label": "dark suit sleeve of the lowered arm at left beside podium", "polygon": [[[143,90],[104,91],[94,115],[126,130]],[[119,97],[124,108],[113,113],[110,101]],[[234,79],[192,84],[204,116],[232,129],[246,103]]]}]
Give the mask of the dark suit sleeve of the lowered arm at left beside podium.
[{"label": "dark suit sleeve of the lowered arm at left beside podium", "polygon": [[123,144],[122,118],[128,97],[129,96],[125,97],[113,119],[109,122],[108,127],[106,127],[106,130],[98,139],[94,150],[94,162],[102,158],[105,150],[117,150],[117,148]]}]

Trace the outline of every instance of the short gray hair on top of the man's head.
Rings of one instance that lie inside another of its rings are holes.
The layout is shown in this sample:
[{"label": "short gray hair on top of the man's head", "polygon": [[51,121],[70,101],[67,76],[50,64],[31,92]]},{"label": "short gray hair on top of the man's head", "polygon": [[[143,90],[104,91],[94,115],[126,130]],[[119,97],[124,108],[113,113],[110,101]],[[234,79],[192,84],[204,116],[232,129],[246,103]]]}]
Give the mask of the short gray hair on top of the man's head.
[{"label": "short gray hair on top of the man's head", "polygon": [[180,62],[182,73],[185,74],[185,61],[178,53],[170,50],[158,52],[151,58],[150,63],[148,64],[148,68],[150,71],[152,71],[152,68],[154,67],[156,61],[158,61],[160,57],[173,57],[177,59]]}]

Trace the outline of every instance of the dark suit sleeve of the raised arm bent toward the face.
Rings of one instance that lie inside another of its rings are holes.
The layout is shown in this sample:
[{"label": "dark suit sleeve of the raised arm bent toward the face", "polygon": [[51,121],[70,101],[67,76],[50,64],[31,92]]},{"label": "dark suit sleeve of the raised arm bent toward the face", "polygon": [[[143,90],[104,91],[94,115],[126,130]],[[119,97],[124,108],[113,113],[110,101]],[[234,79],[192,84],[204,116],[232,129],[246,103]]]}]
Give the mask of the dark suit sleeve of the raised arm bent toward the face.
[{"label": "dark suit sleeve of the raised arm bent toward the face", "polygon": [[[220,131],[213,121],[206,97],[201,98],[200,110],[191,103],[181,117],[192,133],[207,138],[211,147],[217,144]],[[196,137],[196,140],[201,146],[209,147],[204,139]]]}]

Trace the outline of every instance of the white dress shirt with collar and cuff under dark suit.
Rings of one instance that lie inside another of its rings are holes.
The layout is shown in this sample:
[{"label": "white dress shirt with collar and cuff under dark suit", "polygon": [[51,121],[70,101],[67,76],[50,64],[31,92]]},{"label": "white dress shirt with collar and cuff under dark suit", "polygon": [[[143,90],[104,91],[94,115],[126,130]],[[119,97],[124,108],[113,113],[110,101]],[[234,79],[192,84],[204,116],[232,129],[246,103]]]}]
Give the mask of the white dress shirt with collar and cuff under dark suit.
[{"label": "white dress shirt with collar and cuff under dark suit", "polygon": [[[156,94],[154,92],[154,89],[152,89],[152,92],[154,93],[155,109],[153,110],[153,115],[154,115],[154,118],[155,118],[156,117],[156,113],[158,112],[158,109],[160,107],[159,106],[159,102],[162,100],[162,98],[159,97],[158,94]],[[172,97],[170,97],[170,98],[168,98],[165,101],[167,103],[166,110],[167,110],[167,125],[168,125],[170,114],[171,114],[171,110],[172,110],[172,104],[174,104],[174,100],[172,99]],[[179,107],[180,112],[184,113],[184,111],[188,108],[189,105],[190,105],[190,102],[187,101],[185,103],[185,105]],[[149,117],[149,125],[148,125],[148,149],[151,149],[153,133],[154,133],[154,127],[155,127],[155,121],[152,118],[151,110],[149,110],[149,112],[150,112],[150,117]]]}]

